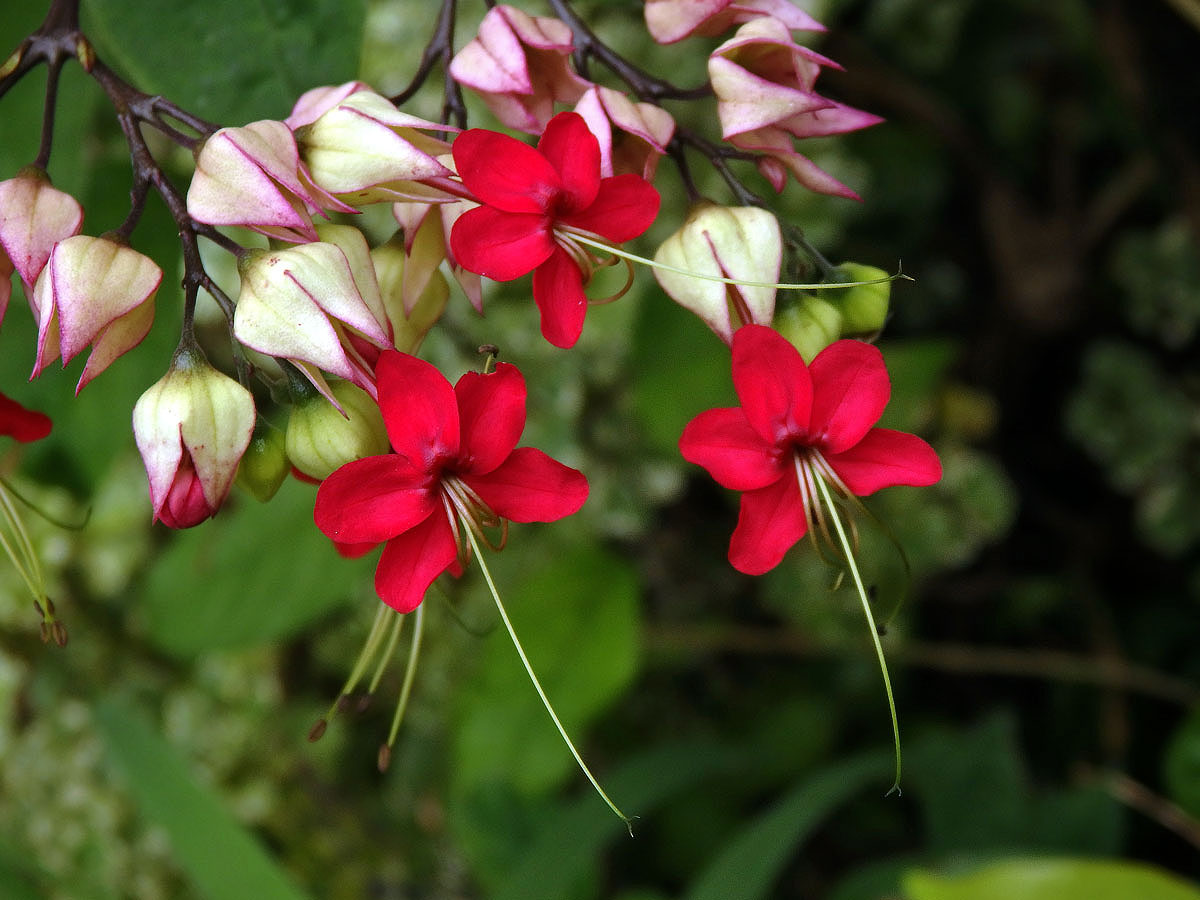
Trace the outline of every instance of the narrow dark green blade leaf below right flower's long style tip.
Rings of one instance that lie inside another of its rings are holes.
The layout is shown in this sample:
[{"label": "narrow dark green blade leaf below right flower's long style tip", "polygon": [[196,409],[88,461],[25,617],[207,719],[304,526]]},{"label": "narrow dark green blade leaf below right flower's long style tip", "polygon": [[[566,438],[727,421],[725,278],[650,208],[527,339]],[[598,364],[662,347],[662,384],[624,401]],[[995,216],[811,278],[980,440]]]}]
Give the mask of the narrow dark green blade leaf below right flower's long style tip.
[{"label": "narrow dark green blade leaf below right flower's long style tip", "polygon": [[796,848],[821,820],[871,781],[887,782],[890,766],[889,754],[870,754],[806,774],[726,845],[692,882],[688,900],[767,896]]}]

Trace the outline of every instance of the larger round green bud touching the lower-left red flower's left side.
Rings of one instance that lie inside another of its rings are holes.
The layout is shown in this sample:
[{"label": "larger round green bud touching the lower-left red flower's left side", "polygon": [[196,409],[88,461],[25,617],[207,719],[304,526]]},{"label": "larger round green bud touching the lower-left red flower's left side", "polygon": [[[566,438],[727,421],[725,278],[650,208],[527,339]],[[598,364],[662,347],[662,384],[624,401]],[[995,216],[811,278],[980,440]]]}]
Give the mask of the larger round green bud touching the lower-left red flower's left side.
[{"label": "larger round green bud touching the lower-left red flower's left side", "polygon": [[386,454],[390,446],[379,407],[366,391],[349,382],[334,382],[330,390],[344,415],[311,391],[288,419],[288,458],[317,481],[353,460]]}]

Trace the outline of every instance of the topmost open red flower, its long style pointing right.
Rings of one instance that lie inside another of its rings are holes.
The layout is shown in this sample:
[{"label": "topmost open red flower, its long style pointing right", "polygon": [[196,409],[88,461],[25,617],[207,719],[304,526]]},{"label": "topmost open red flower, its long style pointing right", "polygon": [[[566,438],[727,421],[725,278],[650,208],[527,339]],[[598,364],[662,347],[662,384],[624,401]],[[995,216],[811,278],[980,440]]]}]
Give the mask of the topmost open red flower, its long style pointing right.
[{"label": "topmost open red flower, its long style pointing right", "polygon": [[538,149],[472,128],[455,138],[454,161],[480,202],[455,222],[450,248],[469,271],[511,281],[533,271],[541,334],[572,347],[583,330],[593,254],[572,230],[622,244],[650,227],[659,194],[640,175],[600,178],[600,145],[576,113],[559,113]]}]

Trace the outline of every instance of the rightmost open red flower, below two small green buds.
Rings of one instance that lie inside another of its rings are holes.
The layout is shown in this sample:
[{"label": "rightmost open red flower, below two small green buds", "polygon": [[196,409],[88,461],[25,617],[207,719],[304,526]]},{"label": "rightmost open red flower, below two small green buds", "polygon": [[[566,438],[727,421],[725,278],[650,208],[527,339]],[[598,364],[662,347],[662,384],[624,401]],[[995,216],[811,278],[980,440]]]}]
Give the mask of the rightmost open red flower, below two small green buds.
[{"label": "rightmost open red flower, below two small green buds", "polygon": [[733,332],[733,386],[740,407],[709,409],[679,439],[689,462],[724,487],[743,491],[730,562],[746,575],[775,568],[814,526],[816,479],[842,497],[942,476],[920,438],[871,426],[892,394],[871,344],[838,341],[805,366],[799,352],[763,325]]}]

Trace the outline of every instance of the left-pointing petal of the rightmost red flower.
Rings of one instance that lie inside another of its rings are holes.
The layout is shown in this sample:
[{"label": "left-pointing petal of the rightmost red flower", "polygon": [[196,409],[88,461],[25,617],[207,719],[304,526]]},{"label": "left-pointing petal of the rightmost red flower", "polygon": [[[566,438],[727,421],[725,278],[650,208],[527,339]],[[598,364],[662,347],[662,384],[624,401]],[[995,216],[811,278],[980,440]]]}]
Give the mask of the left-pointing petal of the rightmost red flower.
[{"label": "left-pointing petal of the rightmost red flower", "polygon": [[733,491],[766,487],[784,474],[782,454],[750,427],[740,407],[697,415],[683,430],[679,452]]}]

